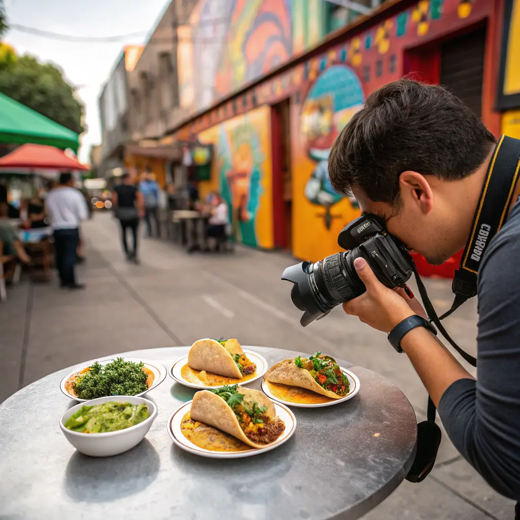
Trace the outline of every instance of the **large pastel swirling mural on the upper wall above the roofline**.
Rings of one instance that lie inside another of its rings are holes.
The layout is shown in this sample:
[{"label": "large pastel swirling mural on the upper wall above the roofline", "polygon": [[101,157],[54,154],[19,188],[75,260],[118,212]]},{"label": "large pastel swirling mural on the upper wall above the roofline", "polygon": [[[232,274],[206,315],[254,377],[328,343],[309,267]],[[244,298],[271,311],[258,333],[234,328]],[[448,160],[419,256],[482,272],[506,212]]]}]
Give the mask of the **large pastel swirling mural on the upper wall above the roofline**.
[{"label": "large pastel swirling mural on the upper wall above the roofline", "polygon": [[180,105],[208,107],[323,36],[322,0],[199,0],[178,29]]}]

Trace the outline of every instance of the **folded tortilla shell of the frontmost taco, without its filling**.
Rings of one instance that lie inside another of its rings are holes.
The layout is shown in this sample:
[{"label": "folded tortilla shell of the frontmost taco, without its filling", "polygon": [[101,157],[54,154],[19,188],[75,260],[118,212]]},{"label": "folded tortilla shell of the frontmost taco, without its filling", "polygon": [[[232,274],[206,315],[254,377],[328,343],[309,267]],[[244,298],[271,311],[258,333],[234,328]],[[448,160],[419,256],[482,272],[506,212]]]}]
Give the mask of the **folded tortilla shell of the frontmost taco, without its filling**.
[{"label": "folded tortilla shell of the frontmost taco, without its filling", "polygon": [[[253,406],[253,403],[257,402],[259,406],[267,406],[265,415],[269,419],[275,417],[275,405],[265,394],[253,388],[242,388],[241,386],[238,387],[238,392],[244,394],[246,404]],[[214,426],[253,448],[265,448],[272,444],[257,444],[250,440],[242,431],[235,412],[228,406],[227,402],[209,390],[201,390],[193,396],[190,417],[194,421]],[[276,442],[276,440],[273,442]]]}]

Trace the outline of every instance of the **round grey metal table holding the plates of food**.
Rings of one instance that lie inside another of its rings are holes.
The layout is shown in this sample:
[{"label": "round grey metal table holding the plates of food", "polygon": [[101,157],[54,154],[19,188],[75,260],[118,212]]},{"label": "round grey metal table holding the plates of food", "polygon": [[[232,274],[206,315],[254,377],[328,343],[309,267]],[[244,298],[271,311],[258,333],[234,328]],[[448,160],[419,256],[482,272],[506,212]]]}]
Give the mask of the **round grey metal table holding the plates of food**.
[{"label": "round grey metal table holding the plates of food", "polygon": [[[298,354],[248,348],[269,365]],[[159,360],[169,369],[187,353],[188,347],[170,347],[121,356]],[[397,386],[371,370],[338,361],[358,376],[357,396],[331,407],[292,408],[297,427],[287,443],[235,460],[197,457],[174,446],[166,422],[195,391],[170,376],[146,395],[159,414],[138,446],[115,457],[86,457],[68,443],[58,424],[63,411],[76,404],[59,388],[73,368],[50,374],[0,405],[2,517],[358,518],[404,479],[415,453],[417,425]],[[259,389],[259,380],[251,387]]]}]

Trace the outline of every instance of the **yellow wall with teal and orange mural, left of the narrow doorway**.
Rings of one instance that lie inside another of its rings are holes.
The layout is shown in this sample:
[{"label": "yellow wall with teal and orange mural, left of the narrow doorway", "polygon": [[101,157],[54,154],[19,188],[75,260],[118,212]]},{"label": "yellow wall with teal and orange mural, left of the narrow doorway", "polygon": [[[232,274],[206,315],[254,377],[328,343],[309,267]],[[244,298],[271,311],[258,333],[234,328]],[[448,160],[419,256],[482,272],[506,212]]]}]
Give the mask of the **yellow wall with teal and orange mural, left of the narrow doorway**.
[{"label": "yellow wall with teal and orange mural, left of the narrow doorway", "polygon": [[220,191],[237,240],[264,249],[274,247],[270,125],[270,108],[264,106],[198,136],[214,145],[211,180],[199,183],[201,198]]}]

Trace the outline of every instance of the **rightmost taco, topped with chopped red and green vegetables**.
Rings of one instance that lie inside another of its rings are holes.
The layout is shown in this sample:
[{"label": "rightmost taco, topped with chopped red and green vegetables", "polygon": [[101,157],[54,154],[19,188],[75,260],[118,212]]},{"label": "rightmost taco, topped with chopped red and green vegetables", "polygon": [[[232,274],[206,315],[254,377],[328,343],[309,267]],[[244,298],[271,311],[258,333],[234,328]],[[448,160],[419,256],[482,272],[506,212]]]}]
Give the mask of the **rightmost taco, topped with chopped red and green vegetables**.
[{"label": "rightmost taco, topped with chopped red and green vegetables", "polygon": [[283,359],[273,365],[264,379],[271,383],[300,386],[332,399],[349,392],[348,378],[333,357],[317,352],[308,358]]}]

